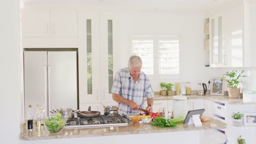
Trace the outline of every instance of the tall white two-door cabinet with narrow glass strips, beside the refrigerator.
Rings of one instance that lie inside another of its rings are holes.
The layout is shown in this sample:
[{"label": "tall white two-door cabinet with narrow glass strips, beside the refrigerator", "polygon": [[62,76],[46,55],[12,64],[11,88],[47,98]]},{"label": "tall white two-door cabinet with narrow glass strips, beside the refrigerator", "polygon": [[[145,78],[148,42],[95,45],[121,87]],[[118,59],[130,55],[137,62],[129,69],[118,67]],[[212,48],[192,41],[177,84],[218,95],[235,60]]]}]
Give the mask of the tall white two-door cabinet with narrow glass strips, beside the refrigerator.
[{"label": "tall white two-door cabinet with narrow glass strips, beside the refrigerator", "polygon": [[[79,13],[79,57],[85,65],[82,103],[113,103],[112,83],[118,70],[118,18],[112,13]],[[84,57],[86,56],[86,57]]]}]

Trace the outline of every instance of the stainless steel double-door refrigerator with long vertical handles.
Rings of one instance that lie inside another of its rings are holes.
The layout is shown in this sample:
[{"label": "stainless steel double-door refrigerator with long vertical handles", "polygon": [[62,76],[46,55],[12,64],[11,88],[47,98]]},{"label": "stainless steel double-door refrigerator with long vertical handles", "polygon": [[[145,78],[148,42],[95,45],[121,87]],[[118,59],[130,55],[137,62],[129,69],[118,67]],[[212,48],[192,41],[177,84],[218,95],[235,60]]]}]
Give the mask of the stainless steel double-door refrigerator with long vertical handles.
[{"label": "stainless steel double-door refrigerator with long vertical handles", "polygon": [[33,114],[36,104],[44,105],[45,114],[61,108],[78,109],[76,51],[25,51],[25,119],[28,105]]}]

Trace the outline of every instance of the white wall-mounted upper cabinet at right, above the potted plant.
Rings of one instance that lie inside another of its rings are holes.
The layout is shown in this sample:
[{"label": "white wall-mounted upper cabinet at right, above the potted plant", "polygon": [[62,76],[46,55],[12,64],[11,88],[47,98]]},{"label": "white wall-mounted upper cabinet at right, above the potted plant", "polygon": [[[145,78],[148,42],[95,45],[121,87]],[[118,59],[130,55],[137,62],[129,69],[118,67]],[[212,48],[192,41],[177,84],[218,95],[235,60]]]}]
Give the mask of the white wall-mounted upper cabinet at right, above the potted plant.
[{"label": "white wall-mounted upper cabinet at right, above the potted plant", "polygon": [[255,67],[251,45],[256,38],[256,32],[252,33],[253,6],[247,8],[245,2],[209,17],[210,67]]}]

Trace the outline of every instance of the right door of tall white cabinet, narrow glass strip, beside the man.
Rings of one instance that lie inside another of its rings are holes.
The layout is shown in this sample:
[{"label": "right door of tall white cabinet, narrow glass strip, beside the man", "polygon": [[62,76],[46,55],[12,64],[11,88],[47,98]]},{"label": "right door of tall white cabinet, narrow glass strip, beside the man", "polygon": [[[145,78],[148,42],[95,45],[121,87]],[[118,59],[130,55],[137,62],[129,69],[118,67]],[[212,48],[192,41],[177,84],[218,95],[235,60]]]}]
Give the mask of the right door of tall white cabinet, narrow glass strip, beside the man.
[{"label": "right door of tall white cabinet, narrow glass strip, beside the man", "polygon": [[101,40],[101,101],[113,102],[112,83],[115,73],[114,52],[118,49],[118,18],[112,13],[100,15],[100,40]]}]

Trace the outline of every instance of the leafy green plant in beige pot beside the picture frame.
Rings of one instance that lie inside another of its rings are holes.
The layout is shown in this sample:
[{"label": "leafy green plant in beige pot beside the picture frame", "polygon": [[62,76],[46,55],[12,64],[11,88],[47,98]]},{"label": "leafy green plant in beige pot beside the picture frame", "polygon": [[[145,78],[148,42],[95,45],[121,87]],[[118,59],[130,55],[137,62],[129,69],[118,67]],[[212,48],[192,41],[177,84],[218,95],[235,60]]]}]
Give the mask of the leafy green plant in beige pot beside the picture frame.
[{"label": "leafy green plant in beige pot beside the picture frame", "polygon": [[[228,93],[230,98],[238,98],[240,95],[240,79],[241,77],[246,77],[242,75],[245,73],[245,70],[242,70],[240,74],[237,73],[237,70],[232,70],[231,72],[227,71],[225,76],[229,76],[229,79],[222,77],[222,80],[228,82]],[[239,85],[239,88],[238,88]]]}]

